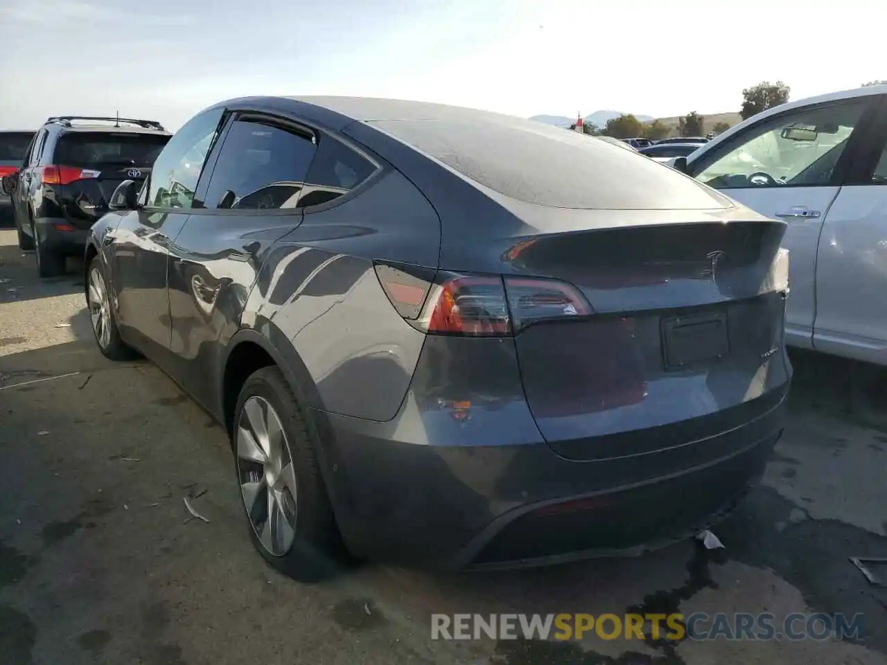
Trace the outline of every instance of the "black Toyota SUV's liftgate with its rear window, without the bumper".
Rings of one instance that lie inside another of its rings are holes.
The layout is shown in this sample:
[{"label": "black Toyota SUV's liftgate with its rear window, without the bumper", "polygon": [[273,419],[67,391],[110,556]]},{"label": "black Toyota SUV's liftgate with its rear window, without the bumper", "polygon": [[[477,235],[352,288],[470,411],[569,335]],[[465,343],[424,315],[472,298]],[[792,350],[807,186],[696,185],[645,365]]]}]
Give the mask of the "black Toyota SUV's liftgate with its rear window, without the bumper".
[{"label": "black Toyota SUV's liftgate with its rear window, without the bumper", "polygon": [[58,168],[61,216],[88,229],[108,211],[108,201],[124,180],[145,181],[169,141],[160,132],[68,131],[59,137],[52,163]]}]

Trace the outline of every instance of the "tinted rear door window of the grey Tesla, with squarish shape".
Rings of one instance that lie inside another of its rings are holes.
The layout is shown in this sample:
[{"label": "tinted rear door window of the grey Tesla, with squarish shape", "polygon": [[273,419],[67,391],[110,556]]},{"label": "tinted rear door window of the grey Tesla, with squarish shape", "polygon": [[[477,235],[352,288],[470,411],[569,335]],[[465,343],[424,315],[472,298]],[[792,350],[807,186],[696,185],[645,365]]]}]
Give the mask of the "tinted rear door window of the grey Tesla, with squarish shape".
[{"label": "tinted rear door window of the grey Tesla, with squarish shape", "polygon": [[296,207],[316,151],[314,138],[307,132],[259,121],[234,121],[209,180],[206,207]]}]

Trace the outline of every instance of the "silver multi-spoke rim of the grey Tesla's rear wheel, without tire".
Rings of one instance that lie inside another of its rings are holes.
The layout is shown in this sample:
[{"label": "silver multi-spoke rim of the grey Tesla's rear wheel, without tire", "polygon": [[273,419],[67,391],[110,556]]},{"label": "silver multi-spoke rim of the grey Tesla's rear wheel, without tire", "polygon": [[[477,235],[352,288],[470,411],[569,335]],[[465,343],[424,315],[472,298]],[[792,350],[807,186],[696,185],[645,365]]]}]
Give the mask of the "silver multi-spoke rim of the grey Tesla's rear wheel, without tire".
[{"label": "silver multi-spoke rim of the grey Tesla's rear wheel, without tire", "polygon": [[237,423],[240,496],[263,548],[279,557],[295,539],[296,485],[287,434],[267,400],[247,399]]}]

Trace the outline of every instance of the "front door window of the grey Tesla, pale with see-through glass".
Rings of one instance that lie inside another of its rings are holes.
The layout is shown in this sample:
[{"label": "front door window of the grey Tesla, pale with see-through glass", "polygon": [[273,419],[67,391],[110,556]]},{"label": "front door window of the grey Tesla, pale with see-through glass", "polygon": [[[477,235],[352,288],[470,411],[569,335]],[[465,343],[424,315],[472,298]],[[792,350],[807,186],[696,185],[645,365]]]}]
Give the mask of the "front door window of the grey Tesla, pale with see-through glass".
[{"label": "front door window of the grey Tesla, pale with see-through glass", "polygon": [[216,137],[223,109],[200,113],[184,124],[154,161],[148,185],[148,206],[193,206],[194,191],[207,153]]}]

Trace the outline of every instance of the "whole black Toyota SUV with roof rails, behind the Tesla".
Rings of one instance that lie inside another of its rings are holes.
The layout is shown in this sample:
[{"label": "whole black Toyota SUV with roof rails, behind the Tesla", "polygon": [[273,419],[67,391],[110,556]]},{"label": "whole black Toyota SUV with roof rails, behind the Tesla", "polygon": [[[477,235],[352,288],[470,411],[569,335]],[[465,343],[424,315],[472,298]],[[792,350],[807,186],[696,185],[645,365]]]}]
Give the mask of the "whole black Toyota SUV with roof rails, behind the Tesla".
[{"label": "whole black Toyota SUV with roof rails, behind the Tesla", "polygon": [[35,134],[18,173],[4,177],[21,249],[34,249],[41,277],[81,255],[87,233],[124,180],[140,182],[171,134],[160,122],[127,118],[50,118]]}]

